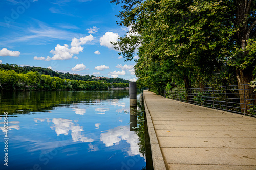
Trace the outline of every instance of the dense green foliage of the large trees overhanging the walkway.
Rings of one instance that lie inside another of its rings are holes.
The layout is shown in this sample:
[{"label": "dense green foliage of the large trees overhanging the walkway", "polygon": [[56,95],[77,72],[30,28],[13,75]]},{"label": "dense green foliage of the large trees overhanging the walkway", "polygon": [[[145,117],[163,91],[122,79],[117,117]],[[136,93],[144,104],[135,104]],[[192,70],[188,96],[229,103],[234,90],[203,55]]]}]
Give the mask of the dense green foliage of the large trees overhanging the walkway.
[{"label": "dense green foliage of the large trees overhanging the walkway", "polygon": [[139,88],[146,86],[161,94],[168,82],[185,88],[220,86],[236,83],[237,77],[238,84],[242,79],[249,83],[253,77],[245,78],[245,69],[255,76],[254,1],[246,5],[248,9],[243,9],[243,1],[111,2],[122,4],[118,24],[131,27],[113,44],[126,60],[132,60],[137,51]]}]

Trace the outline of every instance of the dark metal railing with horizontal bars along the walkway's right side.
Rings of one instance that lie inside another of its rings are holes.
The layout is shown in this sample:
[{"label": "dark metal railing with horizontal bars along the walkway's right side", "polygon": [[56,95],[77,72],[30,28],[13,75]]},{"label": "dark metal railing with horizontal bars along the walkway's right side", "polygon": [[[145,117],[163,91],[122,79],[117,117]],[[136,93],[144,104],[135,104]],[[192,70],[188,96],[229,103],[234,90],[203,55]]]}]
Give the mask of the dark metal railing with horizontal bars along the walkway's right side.
[{"label": "dark metal railing with horizontal bars along the walkway's right side", "polygon": [[255,84],[189,89],[176,87],[169,91],[165,90],[164,96],[195,105],[256,117]]}]

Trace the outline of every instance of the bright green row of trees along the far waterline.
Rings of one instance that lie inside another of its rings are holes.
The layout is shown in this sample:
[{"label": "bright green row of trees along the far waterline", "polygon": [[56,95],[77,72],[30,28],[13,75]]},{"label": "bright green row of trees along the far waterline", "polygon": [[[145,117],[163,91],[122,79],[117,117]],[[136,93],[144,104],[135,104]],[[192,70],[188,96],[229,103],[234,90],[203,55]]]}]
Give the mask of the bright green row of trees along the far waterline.
[{"label": "bright green row of trees along the far waterline", "polygon": [[2,90],[106,90],[111,87],[128,87],[128,83],[110,84],[105,80],[83,81],[61,79],[40,74],[37,71],[18,73],[14,70],[0,71]]}]

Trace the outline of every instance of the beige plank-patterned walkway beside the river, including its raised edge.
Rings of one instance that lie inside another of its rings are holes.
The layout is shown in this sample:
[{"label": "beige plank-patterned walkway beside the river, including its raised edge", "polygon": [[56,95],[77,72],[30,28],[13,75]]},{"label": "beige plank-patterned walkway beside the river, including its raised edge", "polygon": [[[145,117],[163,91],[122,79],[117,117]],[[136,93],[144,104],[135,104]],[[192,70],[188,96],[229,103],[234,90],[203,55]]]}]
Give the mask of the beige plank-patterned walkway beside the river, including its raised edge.
[{"label": "beige plank-patterned walkway beside the river, including its raised edge", "polygon": [[256,169],[256,119],[144,91],[154,169]]}]

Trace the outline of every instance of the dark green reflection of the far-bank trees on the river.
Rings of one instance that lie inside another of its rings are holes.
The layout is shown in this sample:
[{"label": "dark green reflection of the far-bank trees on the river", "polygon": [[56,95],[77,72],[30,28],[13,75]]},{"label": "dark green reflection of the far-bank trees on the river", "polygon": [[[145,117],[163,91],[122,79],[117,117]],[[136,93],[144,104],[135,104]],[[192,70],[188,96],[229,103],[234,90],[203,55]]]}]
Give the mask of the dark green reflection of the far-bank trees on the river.
[{"label": "dark green reflection of the far-bank trees on the river", "polygon": [[[98,104],[108,99],[118,104],[118,99],[129,96],[128,90],[109,91],[4,91],[0,94],[0,115],[27,114],[49,111],[55,107],[70,107],[71,104]],[[79,111],[77,114],[80,114]]]}]

